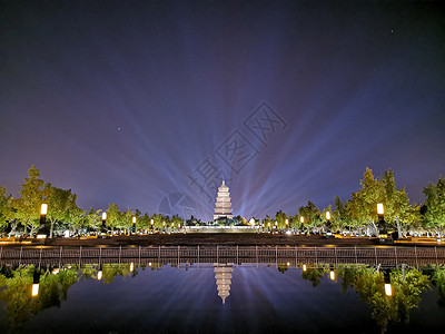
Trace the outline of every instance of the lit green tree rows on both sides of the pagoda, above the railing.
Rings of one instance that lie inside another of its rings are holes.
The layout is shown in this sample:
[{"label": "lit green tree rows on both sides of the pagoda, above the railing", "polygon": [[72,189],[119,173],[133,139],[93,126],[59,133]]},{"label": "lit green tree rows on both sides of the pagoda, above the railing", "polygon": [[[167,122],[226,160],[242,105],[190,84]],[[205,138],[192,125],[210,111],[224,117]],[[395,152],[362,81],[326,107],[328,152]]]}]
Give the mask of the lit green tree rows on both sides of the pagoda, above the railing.
[{"label": "lit green tree rows on both sides of the pagoda, above the railing", "polygon": [[[83,210],[77,205],[77,195],[71,189],[61,189],[44,183],[34,165],[28,170],[28,177],[21,185],[20,197],[7,195],[0,186],[0,232],[8,235],[34,235],[40,226],[40,206],[48,204],[47,222],[51,226],[51,236],[69,229],[78,233],[98,232],[102,226],[101,209],[91,207]],[[334,206],[318,208],[313,202],[300,206],[294,215],[279,210],[275,217],[257,219],[264,228],[294,229],[317,233],[326,228],[338,233],[359,233],[376,235],[377,203],[384,205],[384,220],[389,229],[399,235],[432,233],[442,236],[445,232],[445,179],[439,177],[436,184],[427,185],[423,193],[425,202],[411,204],[405,188],[397,189],[394,171],[386,170],[379,178],[366,168],[357,191],[350,198],[342,200],[335,196]],[[111,230],[129,232],[136,217],[137,229],[171,229],[182,225],[205,224],[194,217],[182,220],[178,215],[168,217],[161,214],[149,215],[139,209],[121,210],[115,203],[109,204],[106,225]],[[329,213],[329,219],[326,218]],[[250,224],[237,216],[229,222],[234,225]]]}]

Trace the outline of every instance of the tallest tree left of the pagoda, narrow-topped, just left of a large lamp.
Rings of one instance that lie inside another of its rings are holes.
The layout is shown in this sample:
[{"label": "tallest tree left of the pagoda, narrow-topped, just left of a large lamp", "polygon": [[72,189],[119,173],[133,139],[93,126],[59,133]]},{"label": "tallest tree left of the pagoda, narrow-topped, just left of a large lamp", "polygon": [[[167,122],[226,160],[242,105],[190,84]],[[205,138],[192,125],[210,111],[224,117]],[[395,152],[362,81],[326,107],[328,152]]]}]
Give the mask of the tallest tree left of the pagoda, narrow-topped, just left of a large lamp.
[{"label": "tallest tree left of the pagoda, narrow-topped, just left of a large lamp", "polygon": [[30,226],[31,235],[39,228],[40,206],[48,196],[48,188],[43,188],[44,181],[39,178],[39,170],[32,165],[28,170],[29,177],[24,178],[24,184],[21,185],[21,198],[11,202],[16,209],[14,218],[24,225],[24,233],[27,233],[27,226]]}]

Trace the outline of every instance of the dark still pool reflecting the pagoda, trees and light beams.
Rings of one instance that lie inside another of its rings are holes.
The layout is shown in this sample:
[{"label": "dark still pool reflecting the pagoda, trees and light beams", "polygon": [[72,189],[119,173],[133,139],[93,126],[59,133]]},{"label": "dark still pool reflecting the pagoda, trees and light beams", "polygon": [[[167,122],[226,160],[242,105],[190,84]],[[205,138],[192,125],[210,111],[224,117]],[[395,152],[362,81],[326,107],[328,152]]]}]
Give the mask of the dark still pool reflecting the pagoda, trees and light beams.
[{"label": "dark still pool reflecting the pagoda, trees and light beams", "polygon": [[97,266],[65,268],[57,275],[44,268],[40,294],[32,298],[33,267],[3,268],[0,285],[8,285],[0,292],[0,332],[414,333],[445,326],[445,308],[438,305],[444,291],[441,295],[431,284],[434,273],[445,277],[443,267],[424,272],[429,276],[414,268],[393,271],[393,297],[383,294],[382,272],[354,265],[337,267],[335,281],[323,265],[306,272],[287,264],[152,264],[134,265],[132,272],[130,264],[108,264],[102,269],[98,281]]}]

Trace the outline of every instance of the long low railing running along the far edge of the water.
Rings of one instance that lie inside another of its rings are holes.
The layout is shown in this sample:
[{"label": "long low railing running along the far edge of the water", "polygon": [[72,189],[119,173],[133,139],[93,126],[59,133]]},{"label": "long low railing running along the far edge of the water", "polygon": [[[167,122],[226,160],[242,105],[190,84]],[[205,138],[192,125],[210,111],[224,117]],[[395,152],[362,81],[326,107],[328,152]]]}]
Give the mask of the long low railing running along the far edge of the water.
[{"label": "long low railing running along the far edge of the water", "polygon": [[442,247],[267,247],[267,246],[159,246],[159,247],[0,247],[1,265],[61,265],[97,263],[159,264],[365,264],[424,267],[445,264]]}]

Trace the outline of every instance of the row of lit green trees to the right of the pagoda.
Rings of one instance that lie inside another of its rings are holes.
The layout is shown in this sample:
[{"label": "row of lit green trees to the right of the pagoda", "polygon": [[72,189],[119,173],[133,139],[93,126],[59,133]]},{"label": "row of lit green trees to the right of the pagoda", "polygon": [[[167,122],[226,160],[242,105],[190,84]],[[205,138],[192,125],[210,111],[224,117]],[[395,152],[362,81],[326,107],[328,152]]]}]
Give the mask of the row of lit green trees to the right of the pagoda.
[{"label": "row of lit green trees to the right of the pagoda", "polygon": [[[350,198],[342,200],[336,195],[334,206],[318,208],[313,202],[300,206],[295,215],[287,216],[281,210],[275,215],[275,220],[266,216],[268,223],[278,228],[289,226],[301,232],[319,232],[327,227],[333,232],[377,235],[379,215],[377,204],[384,207],[384,222],[389,230],[398,232],[399,236],[408,234],[433,234],[442,237],[445,232],[445,179],[439,177],[436,184],[427,185],[423,193],[426,199],[423,204],[411,204],[405,188],[397,189],[394,171],[386,170],[380,177],[374,177],[373,170],[366,168],[364,178],[357,191]],[[326,218],[329,213],[329,220]]]}]

